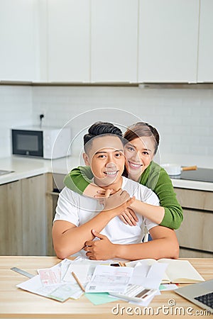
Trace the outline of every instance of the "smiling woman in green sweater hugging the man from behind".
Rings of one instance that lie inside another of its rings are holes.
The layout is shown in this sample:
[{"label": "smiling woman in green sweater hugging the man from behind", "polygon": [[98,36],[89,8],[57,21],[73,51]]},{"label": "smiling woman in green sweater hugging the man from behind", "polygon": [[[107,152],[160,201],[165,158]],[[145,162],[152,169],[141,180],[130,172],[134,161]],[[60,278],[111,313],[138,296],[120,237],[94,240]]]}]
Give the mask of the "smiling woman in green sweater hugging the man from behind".
[{"label": "smiling woman in green sweater hugging the man from behind", "polygon": [[[131,209],[121,214],[121,220],[129,225],[136,225],[138,221],[134,213],[136,211],[155,223],[178,229],[182,222],[182,208],[167,172],[153,162],[160,140],[158,131],[148,123],[138,122],[126,130],[124,139],[126,157],[124,176],[152,189],[160,200],[160,206],[136,200]],[[77,167],[65,177],[64,183],[79,194],[102,197],[105,191],[92,184],[92,178],[93,174],[89,167]]]}]

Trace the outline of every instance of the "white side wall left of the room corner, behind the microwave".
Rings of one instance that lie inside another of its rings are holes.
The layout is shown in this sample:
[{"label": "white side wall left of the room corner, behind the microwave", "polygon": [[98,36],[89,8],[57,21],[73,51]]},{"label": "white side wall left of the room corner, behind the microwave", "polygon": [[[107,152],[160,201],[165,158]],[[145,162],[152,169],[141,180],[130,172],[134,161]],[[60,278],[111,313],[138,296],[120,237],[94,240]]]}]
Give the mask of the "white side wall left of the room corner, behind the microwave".
[{"label": "white side wall left of the room corner, behind the microwave", "polygon": [[31,86],[0,86],[0,157],[11,155],[11,128],[31,124],[32,109]]}]

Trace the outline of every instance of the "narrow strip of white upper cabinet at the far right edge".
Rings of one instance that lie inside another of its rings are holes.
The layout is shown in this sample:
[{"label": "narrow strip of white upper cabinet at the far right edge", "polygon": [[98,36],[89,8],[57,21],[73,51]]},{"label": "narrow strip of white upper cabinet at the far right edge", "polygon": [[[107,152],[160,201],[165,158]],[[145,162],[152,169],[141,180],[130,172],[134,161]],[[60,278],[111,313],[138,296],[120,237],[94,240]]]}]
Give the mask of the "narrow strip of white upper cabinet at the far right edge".
[{"label": "narrow strip of white upper cabinet at the far right edge", "polygon": [[213,1],[200,0],[197,82],[213,82]]}]

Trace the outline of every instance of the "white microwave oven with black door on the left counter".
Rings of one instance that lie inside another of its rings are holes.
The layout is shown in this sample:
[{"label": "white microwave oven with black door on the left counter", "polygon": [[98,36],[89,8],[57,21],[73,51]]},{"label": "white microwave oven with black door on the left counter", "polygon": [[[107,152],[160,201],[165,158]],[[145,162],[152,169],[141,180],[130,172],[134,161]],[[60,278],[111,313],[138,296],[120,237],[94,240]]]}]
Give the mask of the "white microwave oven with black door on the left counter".
[{"label": "white microwave oven with black door on the left counter", "polygon": [[66,157],[70,152],[70,128],[13,128],[11,136],[13,155],[56,159]]}]

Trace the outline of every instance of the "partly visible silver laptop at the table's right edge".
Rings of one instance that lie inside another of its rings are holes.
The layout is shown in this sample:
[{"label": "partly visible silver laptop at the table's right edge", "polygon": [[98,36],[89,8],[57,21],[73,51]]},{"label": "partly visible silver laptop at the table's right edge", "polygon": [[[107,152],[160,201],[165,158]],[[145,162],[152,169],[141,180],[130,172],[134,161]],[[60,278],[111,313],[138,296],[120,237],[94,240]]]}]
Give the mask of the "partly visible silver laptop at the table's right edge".
[{"label": "partly visible silver laptop at the table's right edge", "polygon": [[213,313],[213,279],[180,287],[175,293]]}]

